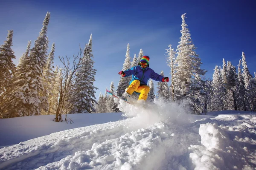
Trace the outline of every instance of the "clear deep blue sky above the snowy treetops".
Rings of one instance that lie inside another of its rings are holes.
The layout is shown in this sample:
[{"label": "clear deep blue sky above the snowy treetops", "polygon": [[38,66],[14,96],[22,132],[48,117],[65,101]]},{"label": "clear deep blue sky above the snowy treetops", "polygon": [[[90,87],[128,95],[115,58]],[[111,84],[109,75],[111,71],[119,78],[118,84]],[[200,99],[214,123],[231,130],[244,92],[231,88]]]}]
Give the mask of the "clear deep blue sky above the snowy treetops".
[{"label": "clear deep blue sky above the snowy treetops", "polygon": [[79,43],[84,48],[93,34],[98,98],[111,81],[117,87],[117,73],[122,70],[128,43],[131,59],[142,48],[150,57],[150,67],[170,76],[166,48],[169,44],[177,48],[180,16],[187,13],[186,23],[208,78],[212,78],[215,65],[222,65],[223,58],[237,65],[242,51],[254,76],[255,8],[255,0],[2,0],[0,44],[6,40],[7,30],[13,29],[17,64],[28,40],[34,42],[38,37],[47,11],[51,13],[47,35],[49,46],[55,42],[55,64],[60,64],[58,56],[77,54]]}]

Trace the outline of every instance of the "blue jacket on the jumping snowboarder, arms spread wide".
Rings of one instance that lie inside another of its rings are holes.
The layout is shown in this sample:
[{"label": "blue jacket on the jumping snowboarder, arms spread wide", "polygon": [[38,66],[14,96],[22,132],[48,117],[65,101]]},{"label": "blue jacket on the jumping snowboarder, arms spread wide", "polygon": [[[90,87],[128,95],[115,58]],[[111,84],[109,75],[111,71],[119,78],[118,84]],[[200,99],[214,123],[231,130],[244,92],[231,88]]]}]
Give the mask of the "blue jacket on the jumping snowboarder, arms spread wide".
[{"label": "blue jacket on the jumping snowboarder, arms spread wide", "polygon": [[[140,80],[140,85],[147,85],[148,80],[151,78],[155,81],[161,82],[164,78],[163,76],[157,74],[149,67],[141,68],[139,65],[134,66],[128,70],[125,70],[125,76],[128,77],[132,75],[131,82],[134,80]],[[130,84],[131,84],[130,82]]]}]

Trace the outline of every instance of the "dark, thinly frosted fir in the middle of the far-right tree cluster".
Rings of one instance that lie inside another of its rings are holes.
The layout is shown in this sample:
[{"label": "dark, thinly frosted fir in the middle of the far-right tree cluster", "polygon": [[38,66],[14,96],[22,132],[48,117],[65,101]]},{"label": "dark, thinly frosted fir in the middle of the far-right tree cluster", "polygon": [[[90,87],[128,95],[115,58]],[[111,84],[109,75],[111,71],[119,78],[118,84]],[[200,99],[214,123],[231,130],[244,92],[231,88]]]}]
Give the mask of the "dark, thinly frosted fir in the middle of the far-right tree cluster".
[{"label": "dark, thinly frosted fir in the middle of the far-right tree cluster", "polygon": [[236,82],[237,74],[236,67],[231,64],[230,61],[227,61],[227,109],[228,110],[237,110],[236,104]]}]

